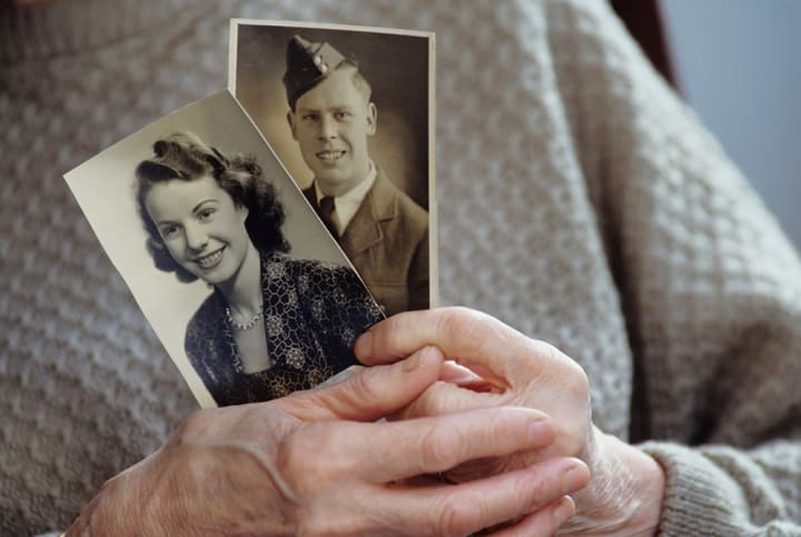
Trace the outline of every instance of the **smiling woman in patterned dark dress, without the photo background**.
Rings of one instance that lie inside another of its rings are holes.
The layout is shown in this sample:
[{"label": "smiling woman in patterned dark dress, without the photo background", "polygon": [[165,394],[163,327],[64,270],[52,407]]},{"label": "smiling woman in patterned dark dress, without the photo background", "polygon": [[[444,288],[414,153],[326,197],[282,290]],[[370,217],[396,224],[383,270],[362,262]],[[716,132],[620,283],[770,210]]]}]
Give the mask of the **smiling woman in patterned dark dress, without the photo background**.
[{"label": "smiling woman in patterned dark dress, without the photo background", "polygon": [[348,267],[286,256],[284,208],[253,156],[177,132],[136,177],[156,267],[212,288],[185,348],[218,405],[308,389],[356,364],[356,337],[382,314]]}]

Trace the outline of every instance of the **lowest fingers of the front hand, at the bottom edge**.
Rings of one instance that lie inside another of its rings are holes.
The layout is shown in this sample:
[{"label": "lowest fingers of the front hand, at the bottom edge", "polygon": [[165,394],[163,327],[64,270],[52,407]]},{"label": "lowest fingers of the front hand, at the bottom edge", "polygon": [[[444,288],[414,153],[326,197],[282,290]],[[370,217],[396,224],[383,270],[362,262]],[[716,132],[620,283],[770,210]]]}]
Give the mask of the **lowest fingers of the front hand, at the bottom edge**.
[{"label": "lowest fingers of the front hand, at the bottom edge", "polygon": [[491,535],[551,535],[573,511],[564,496],[589,479],[590,470],[578,459],[553,458],[461,485],[396,489],[390,496],[376,495],[375,501],[413,535],[468,535],[530,514]]}]

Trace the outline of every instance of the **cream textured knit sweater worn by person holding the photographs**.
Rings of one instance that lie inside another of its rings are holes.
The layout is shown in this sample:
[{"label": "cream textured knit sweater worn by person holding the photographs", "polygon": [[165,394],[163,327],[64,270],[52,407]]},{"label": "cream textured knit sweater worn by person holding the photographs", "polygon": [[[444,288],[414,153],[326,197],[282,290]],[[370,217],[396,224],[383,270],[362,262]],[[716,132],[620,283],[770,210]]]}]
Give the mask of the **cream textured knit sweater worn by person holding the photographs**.
[{"label": "cream textured knit sweater worn by person holding the photographs", "polygon": [[[665,535],[801,535],[801,263],[601,1],[0,6],[0,534],[66,527],[195,408],[61,175],[226,84],[230,17],[437,33],[444,304],[575,358]],[[380,127],[379,127],[380,128]]]}]

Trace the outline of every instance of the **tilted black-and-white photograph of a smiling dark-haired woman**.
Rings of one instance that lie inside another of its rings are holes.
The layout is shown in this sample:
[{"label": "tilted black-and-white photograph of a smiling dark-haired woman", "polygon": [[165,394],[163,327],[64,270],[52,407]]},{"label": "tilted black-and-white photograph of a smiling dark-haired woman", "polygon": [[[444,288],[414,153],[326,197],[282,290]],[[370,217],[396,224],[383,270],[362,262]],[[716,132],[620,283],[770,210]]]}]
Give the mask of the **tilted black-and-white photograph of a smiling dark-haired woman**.
[{"label": "tilted black-and-white photograph of a smiling dark-haired woman", "polygon": [[204,407],[317,386],[383,318],[228,91],[65,177]]}]

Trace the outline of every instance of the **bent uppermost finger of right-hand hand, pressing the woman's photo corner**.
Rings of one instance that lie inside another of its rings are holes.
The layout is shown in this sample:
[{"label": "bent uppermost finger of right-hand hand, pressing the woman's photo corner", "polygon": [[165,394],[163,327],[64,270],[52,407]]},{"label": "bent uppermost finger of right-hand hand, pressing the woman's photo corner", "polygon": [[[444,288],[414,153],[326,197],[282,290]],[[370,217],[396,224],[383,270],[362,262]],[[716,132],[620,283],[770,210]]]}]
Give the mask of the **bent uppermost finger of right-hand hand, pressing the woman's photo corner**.
[{"label": "bent uppermost finger of right-hand hand, pressing the woman's photo corner", "polygon": [[[363,364],[387,364],[433,345],[446,358],[464,364],[488,381],[511,377],[513,357],[531,359],[532,340],[503,322],[466,308],[443,308],[399,314],[386,319],[356,341]],[[544,347],[544,346],[543,346]],[[512,366],[511,366],[512,365]]]}]

